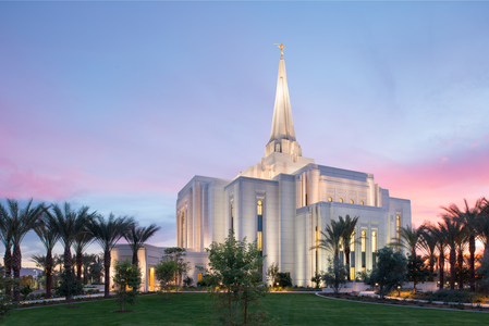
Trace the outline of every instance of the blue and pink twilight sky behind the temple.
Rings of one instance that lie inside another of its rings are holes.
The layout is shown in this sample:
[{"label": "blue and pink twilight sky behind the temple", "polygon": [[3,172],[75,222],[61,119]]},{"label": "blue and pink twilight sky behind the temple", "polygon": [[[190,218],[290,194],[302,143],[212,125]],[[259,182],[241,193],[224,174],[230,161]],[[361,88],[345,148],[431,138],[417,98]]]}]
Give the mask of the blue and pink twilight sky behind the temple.
[{"label": "blue and pink twilight sky behind the temple", "polygon": [[[303,155],[372,173],[415,225],[435,222],[489,197],[488,16],[489,2],[1,1],[0,202],[134,216],[175,246],[178,191],[262,158],[283,42]],[[24,266],[45,253],[33,233],[21,248]]]}]

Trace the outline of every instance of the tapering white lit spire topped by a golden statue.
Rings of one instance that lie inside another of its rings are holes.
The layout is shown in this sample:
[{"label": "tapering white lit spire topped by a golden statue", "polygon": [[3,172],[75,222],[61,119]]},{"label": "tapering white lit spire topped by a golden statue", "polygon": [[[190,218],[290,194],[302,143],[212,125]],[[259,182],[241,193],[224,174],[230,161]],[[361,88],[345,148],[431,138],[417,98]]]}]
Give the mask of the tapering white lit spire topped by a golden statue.
[{"label": "tapering white lit spire topped by a golden statue", "polygon": [[285,61],[283,60],[283,43],[279,48],[282,55],[279,62],[279,77],[277,79],[276,104],[273,108],[270,140],[265,147],[265,156],[273,152],[301,156],[302,150],[295,140],[294,121],[292,120]]}]

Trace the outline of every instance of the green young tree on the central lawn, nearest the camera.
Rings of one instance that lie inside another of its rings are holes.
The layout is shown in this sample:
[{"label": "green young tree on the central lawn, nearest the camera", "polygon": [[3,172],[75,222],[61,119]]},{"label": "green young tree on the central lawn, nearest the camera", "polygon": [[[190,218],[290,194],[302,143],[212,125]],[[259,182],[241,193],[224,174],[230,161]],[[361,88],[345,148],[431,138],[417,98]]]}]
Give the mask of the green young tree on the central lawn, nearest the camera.
[{"label": "green young tree on the central lawn, nearest the camera", "polygon": [[223,243],[212,242],[209,252],[210,277],[219,284],[211,290],[216,316],[224,325],[264,324],[267,313],[260,309],[268,292],[259,268],[264,258],[257,242],[236,240],[232,230]]}]

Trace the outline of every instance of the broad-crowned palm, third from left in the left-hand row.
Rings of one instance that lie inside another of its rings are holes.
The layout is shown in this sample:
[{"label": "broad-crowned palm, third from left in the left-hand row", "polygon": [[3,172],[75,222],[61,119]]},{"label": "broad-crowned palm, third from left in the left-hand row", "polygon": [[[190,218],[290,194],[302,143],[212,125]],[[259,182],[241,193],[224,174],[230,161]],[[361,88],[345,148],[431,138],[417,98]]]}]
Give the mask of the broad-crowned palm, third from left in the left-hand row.
[{"label": "broad-crowned palm, third from left in the left-hand row", "polygon": [[[89,214],[87,206],[82,206],[78,211],[72,210],[70,203],[65,202],[63,208],[58,204],[51,206],[52,213],[46,210],[46,218],[59,234],[60,241],[64,247],[64,273],[66,279],[73,273],[71,247],[75,238],[81,233],[86,233],[87,224],[93,220],[95,213]],[[71,301],[71,291],[66,292],[66,301]]]}]

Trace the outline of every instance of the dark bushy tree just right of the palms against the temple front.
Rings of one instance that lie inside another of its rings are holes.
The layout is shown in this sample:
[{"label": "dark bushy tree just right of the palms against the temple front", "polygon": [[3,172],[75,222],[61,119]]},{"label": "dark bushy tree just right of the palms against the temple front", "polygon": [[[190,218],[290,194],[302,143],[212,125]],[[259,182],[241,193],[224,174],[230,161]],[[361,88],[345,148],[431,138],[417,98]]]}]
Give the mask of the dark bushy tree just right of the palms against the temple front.
[{"label": "dark bushy tree just right of the palms against the temple front", "polygon": [[400,251],[394,252],[390,247],[377,250],[376,256],[377,265],[371,271],[369,284],[378,285],[380,299],[383,299],[406,279],[407,260]]}]

